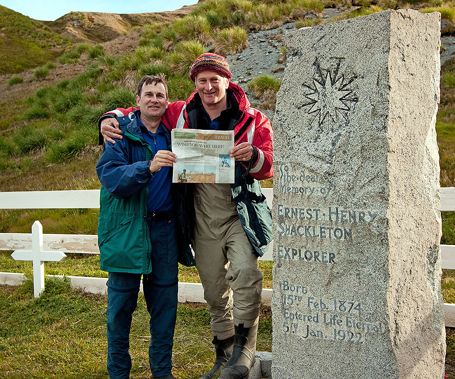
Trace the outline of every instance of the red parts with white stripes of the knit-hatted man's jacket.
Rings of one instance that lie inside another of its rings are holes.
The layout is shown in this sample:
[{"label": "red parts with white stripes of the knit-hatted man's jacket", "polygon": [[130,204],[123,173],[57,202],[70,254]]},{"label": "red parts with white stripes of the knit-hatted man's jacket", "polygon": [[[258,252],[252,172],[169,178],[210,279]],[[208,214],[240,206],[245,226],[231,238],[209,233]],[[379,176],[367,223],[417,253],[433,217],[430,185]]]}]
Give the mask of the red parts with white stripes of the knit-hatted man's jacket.
[{"label": "red parts with white stripes of the knit-hatted man's jacket", "polygon": [[[270,121],[263,113],[250,107],[250,102],[240,86],[230,82],[228,91],[231,94],[230,98],[235,99],[239,106],[239,112],[234,120],[235,145],[242,142],[251,143],[257,149],[257,160],[250,167],[250,175],[257,180],[270,178],[274,174],[273,131]],[[176,128],[177,125],[178,127],[196,129],[197,124],[194,117],[192,117],[192,111],[198,102],[200,102],[199,94],[195,91],[186,102],[176,101],[169,103],[162,117],[163,124],[169,130]],[[134,110],[136,110],[134,107],[127,109],[118,108],[108,113],[114,113],[117,116],[127,116]],[[246,164],[245,166],[248,167]]]}]

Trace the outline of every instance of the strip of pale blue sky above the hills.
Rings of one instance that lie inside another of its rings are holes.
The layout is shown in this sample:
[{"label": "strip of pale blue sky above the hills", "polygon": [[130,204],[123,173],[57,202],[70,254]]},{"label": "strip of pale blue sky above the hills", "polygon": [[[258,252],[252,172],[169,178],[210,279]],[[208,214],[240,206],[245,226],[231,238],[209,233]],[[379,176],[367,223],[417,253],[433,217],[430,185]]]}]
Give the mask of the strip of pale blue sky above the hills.
[{"label": "strip of pale blue sky above the hills", "polygon": [[0,4],[35,20],[54,21],[71,12],[145,13],[175,11],[198,0],[0,0]]}]

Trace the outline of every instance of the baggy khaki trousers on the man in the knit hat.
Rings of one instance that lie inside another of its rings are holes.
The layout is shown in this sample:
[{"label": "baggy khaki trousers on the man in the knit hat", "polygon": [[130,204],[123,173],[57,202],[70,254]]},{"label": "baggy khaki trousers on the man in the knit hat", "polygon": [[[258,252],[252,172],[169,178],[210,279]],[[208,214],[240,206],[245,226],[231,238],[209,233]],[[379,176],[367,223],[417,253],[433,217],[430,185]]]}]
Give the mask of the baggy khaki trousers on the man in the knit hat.
[{"label": "baggy khaki trousers on the man in the knit hat", "polygon": [[230,184],[194,184],[196,267],[213,337],[234,336],[234,324],[259,320],[262,273],[243,230]]}]

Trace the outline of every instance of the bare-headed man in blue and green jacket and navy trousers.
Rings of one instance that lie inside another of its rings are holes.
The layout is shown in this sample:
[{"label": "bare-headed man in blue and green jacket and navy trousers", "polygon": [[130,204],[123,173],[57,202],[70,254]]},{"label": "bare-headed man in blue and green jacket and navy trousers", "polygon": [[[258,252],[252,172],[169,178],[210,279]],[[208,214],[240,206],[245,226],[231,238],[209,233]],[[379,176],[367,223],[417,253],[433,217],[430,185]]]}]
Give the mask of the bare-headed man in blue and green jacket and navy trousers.
[{"label": "bare-headed man in blue and green jacket and navy trousers", "polygon": [[[170,191],[176,156],[168,151],[169,131],[161,123],[167,85],[162,76],[144,76],[131,119],[119,117],[124,138],[107,143],[96,170],[101,181],[98,241],[101,269],[109,272],[107,369],[110,378],[128,378],[129,331],[143,277],[150,313],[150,367],[154,378],[171,374],[177,310],[178,241]],[[187,247],[188,249],[188,247]],[[188,253],[188,250],[186,251]],[[191,253],[189,253],[191,254]],[[191,255],[185,257],[193,265]]]}]

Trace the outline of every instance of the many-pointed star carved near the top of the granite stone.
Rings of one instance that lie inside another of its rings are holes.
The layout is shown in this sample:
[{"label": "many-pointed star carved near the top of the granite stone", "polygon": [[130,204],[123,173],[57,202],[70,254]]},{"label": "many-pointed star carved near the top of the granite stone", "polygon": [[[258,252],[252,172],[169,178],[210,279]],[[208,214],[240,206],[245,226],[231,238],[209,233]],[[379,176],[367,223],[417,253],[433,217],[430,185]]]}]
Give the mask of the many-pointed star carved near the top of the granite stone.
[{"label": "many-pointed star carved near the top of the granite stone", "polygon": [[309,107],[308,114],[314,115],[311,123],[317,120],[320,128],[325,121],[338,123],[339,116],[347,120],[348,112],[358,101],[357,95],[350,88],[355,76],[346,79],[339,73],[339,68],[340,62],[333,71],[323,70],[316,65],[317,76],[313,77],[310,85],[303,84],[309,90],[305,94],[309,102],[303,106]]}]

